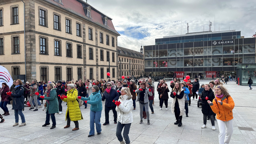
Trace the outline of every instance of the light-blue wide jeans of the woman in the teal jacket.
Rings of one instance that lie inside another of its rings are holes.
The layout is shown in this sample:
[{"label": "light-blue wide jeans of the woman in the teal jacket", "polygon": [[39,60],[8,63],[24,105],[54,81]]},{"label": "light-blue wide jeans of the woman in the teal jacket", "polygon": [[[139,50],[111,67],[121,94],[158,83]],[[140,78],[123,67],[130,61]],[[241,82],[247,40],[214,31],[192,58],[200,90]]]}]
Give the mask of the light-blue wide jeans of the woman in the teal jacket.
[{"label": "light-blue wide jeans of the woman in the teal jacket", "polygon": [[96,125],[96,131],[101,132],[100,118],[101,118],[101,111],[93,112],[90,110],[90,132],[89,132],[89,135],[94,135],[94,122]]}]

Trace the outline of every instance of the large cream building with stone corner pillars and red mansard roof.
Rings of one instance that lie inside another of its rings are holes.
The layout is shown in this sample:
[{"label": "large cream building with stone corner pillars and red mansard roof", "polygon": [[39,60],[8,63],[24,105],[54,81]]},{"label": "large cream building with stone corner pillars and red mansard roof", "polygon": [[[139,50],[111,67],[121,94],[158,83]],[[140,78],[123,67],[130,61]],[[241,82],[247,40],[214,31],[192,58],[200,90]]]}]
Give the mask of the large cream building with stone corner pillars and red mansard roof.
[{"label": "large cream building with stone corner pillars and red mansard roof", "polygon": [[2,0],[0,63],[29,82],[116,77],[111,20],[82,0]]}]

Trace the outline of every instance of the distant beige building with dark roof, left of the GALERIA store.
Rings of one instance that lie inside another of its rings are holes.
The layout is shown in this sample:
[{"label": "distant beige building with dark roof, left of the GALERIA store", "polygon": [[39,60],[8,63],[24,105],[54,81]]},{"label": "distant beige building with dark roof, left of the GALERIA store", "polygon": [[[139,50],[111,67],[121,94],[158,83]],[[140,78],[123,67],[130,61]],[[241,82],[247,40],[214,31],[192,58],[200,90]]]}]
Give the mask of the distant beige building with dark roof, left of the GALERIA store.
[{"label": "distant beige building with dark roof, left of the GALERIA store", "polygon": [[141,52],[118,46],[118,79],[121,76],[140,77],[144,75],[144,56],[141,46]]}]

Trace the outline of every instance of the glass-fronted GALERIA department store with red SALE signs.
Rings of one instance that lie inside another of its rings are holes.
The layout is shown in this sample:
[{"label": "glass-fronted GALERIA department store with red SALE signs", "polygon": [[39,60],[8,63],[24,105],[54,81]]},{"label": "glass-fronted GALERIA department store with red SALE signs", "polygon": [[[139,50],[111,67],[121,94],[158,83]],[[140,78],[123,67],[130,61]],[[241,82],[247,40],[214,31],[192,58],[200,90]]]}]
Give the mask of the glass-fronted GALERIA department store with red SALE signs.
[{"label": "glass-fronted GALERIA department store with red SALE signs", "polygon": [[144,57],[146,75],[236,75],[237,64],[255,63],[255,38],[241,38],[236,30],[167,36],[144,46]]}]

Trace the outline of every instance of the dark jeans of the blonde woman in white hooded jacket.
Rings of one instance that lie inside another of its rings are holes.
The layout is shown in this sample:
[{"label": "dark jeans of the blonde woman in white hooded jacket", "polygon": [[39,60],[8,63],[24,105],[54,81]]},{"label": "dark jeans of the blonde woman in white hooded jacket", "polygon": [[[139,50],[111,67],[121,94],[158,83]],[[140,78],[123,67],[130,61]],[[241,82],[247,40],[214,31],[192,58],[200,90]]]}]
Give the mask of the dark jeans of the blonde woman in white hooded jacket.
[{"label": "dark jeans of the blonde woman in white hooded jacket", "polygon": [[123,136],[124,136],[124,140],[125,140],[125,143],[130,143],[130,139],[129,139],[129,131],[130,131],[130,127],[131,127],[131,124],[121,124],[119,121],[117,123],[117,127],[116,127],[116,137],[119,141],[123,141],[123,137],[122,137],[122,130],[124,128],[124,132],[123,132]]}]

